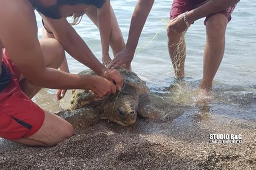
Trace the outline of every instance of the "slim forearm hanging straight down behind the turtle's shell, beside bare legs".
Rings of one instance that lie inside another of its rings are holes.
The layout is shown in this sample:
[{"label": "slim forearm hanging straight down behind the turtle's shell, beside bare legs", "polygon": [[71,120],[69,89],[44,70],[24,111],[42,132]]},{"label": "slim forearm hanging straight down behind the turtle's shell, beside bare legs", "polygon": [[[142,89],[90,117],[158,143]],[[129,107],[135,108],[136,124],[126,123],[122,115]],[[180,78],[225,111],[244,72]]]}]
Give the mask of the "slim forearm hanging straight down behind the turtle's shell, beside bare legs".
[{"label": "slim forearm hanging straight down behind the turtle's shell, beside bare legs", "polygon": [[110,61],[109,45],[111,33],[111,13],[110,13],[110,0],[104,3],[102,8],[97,9],[98,14],[98,27],[100,30],[100,38],[102,45],[102,62]]}]

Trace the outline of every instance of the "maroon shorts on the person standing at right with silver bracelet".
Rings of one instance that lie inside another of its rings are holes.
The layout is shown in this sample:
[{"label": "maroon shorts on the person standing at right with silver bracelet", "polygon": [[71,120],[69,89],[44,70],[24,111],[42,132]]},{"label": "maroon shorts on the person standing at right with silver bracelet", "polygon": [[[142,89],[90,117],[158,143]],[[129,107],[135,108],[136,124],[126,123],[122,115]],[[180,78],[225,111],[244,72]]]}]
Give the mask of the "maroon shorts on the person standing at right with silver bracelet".
[{"label": "maroon shorts on the person standing at right with silver bracelet", "polygon": [[[172,8],[170,12],[170,20],[176,18],[178,15],[193,10],[197,8],[198,6],[201,6],[207,2],[207,0],[173,0]],[[224,14],[228,18],[228,22],[231,20],[231,14],[236,8],[236,4],[234,6],[231,6],[230,8],[218,12],[219,14]],[[214,14],[212,14],[214,15]],[[207,20],[210,18],[210,16],[206,16],[206,19],[204,20],[204,25],[206,25]]]}]

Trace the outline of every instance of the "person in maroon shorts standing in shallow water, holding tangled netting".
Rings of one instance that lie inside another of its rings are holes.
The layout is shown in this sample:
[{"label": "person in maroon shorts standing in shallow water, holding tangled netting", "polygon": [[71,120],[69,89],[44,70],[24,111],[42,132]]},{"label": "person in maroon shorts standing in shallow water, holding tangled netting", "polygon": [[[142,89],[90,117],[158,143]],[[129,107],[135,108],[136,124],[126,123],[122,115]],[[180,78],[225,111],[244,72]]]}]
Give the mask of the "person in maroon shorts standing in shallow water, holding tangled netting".
[{"label": "person in maroon shorts standing in shallow water, holding tangled netting", "polygon": [[200,84],[200,94],[203,96],[207,96],[212,88],[214,76],[224,55],[227,24],[238,2],[239,0],[174,0],[172,3],[167,28],[168,50],[178,79],[185,76],[186,44],[184,41],[180,44],[184,51],[176,51],[177,44],[191,24],[206,17],[204,73]]}]

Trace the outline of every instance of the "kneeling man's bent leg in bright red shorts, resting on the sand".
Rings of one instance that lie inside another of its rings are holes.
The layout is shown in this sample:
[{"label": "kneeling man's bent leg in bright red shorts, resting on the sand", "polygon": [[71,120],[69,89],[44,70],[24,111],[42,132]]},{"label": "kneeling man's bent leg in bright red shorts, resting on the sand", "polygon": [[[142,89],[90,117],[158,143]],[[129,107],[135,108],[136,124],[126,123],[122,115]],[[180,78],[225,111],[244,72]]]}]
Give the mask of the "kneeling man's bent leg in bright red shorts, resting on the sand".
[{"label": "kneeling man's bent leg in bright red shorts, resting on the sand", "polygon": [[70,123],[42,110],[19,87],[11,92],[0,107],[0,137],[30,146],[53,146],[72,136]]}]

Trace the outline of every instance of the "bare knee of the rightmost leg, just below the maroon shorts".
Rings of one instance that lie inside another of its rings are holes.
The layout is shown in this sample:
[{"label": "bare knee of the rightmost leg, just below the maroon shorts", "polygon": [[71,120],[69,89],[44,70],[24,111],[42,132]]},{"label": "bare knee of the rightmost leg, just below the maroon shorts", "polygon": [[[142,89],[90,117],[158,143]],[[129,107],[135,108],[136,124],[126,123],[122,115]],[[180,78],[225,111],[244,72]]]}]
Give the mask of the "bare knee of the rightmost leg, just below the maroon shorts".
[{"label": "bare knee of the rightmost leg, just below the maroon shorts", "polygon": [[206,27],[210,29],[212,33],[223,33],[226,31],[228,24],[228,18],[223,14],[214,14],[207,22]]}]

